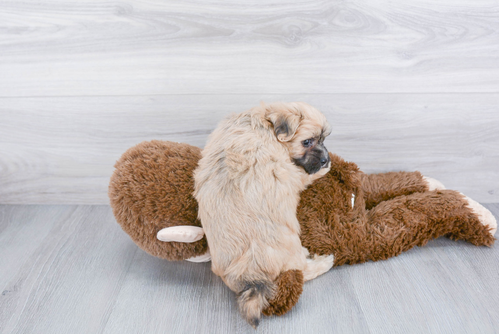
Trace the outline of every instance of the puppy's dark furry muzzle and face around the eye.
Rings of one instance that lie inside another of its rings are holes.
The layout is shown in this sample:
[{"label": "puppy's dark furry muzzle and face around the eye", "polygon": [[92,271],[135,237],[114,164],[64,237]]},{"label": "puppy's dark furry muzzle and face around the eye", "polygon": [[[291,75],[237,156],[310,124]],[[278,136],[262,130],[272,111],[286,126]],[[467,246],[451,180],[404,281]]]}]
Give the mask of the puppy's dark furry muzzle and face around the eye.
[{"label": "puppy's dark furry muzzle and face around the eye", "polygon": [[329,154],[323,138],[308,138],[301,141],[301,145],[303,147],[301,157],[291,158],[295,165],[303,167],[308,174],[315,174],[322,168],[329,167]]}]

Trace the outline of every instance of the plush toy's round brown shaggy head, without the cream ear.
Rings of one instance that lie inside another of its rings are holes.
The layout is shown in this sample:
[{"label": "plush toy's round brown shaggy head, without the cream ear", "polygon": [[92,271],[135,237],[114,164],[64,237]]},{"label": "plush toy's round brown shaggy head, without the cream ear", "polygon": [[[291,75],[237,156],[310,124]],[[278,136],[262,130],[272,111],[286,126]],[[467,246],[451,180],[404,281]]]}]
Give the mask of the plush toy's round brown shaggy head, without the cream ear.
[{"label": "plush toy's round brown shaggy head, without the cream ear", "polygon": [[201,227],[192,196],[192,172],[200,158],[198,147],[153,140],[129,148],[116,162],[108,190],[113,213],[133,242],[149,254],[173,261],[206,252],[206,237],[193,243],[156,238],[165,227]]}]

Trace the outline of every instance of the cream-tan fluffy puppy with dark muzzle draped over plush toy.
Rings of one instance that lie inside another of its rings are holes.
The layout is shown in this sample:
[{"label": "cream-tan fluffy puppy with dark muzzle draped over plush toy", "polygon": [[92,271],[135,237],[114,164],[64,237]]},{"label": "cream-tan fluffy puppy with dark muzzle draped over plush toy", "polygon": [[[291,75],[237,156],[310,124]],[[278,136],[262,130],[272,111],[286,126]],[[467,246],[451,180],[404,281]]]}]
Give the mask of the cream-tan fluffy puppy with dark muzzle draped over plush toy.
[{"label": "cream-tan fluffy puppy with dark muzzle draped over plush toy", "polygon": [[332,255],[307,259],[296,219],[299,193],[330,168],[324,115],[303,102],[262,104],[222,121],[194,173],[194,195],[211,268],[237,293],[239,311],[256,327],[280,272],[312,279]]}]

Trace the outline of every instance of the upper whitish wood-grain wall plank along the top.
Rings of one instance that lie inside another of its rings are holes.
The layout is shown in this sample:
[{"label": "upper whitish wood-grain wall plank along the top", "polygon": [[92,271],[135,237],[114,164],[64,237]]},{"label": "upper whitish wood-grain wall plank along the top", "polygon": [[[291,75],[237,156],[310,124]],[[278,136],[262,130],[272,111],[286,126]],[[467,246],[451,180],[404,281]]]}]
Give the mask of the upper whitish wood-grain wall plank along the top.
[{"label": "upper whitish wood-grain wall plank along the top", "polygon": [[496,0],[0,3],[0,96],[499,92]]}]

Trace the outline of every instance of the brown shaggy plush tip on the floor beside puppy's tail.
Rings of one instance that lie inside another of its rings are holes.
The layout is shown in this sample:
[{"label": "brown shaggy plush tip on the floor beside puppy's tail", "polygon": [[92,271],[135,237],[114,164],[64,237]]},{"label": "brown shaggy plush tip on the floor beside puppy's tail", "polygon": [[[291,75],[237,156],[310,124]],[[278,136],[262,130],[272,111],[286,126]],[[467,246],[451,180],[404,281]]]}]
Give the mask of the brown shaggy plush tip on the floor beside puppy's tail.
[{"label": "brown shaggy plush tip on the floor beside puppy's tail", "polygon": [[275,294],[263,314],[282,316],[296,304],[303,291],[303,273],[300,270],[287,270],[275,279]]}]

